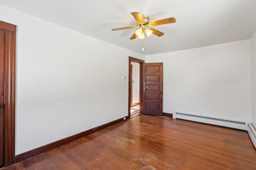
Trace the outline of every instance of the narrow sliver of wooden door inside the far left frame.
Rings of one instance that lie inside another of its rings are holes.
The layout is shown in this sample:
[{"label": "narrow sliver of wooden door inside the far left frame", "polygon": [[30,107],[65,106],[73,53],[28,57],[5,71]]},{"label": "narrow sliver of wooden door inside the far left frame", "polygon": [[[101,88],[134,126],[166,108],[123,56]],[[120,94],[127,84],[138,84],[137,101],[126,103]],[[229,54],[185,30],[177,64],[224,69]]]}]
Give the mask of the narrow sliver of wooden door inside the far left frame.
[{"label": "narrow sliver of wooden door inside the far left frame", "polygon": [[4,30],[0,29],[0,167],[4,166]]}]

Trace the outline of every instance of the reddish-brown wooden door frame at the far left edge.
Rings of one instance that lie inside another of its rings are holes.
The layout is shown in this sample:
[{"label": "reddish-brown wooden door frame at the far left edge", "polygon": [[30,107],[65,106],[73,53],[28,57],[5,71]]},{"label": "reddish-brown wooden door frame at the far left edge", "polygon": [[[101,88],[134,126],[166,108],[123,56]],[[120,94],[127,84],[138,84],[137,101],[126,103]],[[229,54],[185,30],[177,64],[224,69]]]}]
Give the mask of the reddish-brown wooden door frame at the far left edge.
[{"label": "reddish-brown wooden door frame at the far left edge", "polygon": [[16,25],[0,21],[4,30],[4,167],[15,163]]}]

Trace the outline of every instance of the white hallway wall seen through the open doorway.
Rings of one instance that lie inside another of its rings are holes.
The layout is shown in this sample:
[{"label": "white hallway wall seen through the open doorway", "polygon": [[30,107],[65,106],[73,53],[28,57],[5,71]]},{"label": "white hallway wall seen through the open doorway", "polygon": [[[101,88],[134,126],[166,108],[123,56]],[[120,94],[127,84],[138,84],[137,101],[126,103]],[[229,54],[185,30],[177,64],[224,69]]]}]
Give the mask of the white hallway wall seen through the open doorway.
[{"label": "white hallway wall seen through the open doorway", "polygon": [[140,102],[140,64],[132,63],[132,104]]}]

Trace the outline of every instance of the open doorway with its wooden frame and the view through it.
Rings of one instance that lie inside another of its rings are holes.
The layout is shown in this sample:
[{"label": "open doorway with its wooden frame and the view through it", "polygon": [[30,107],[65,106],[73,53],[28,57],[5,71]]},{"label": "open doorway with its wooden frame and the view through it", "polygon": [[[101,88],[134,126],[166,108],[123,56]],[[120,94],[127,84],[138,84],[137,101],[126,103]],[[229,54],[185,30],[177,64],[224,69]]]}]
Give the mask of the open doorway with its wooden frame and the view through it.
[{"label": "open doorway with its wooden frame and the view through it", "polygon": [[142,64],[143,60],[129,57],[129,99],[128,116],[142,113]]}]

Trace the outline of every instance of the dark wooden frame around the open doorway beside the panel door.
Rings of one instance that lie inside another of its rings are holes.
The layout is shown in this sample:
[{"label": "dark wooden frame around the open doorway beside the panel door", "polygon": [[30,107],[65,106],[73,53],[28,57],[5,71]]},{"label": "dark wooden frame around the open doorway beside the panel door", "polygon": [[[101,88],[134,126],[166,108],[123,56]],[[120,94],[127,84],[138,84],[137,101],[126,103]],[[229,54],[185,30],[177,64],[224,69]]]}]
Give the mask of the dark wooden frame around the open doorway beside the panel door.
[{"label": "dark wooden frame around the open doorway beside the panel door", "polygon": [[136,59],[136,58],[133,58],[133,57],[130,57],[129,56],[129,85],[128,85],[128,117],[130,119],[131,117],[131,86],[132,86],[132,81],[131,81],[131,72],[132,72],[132,64],[131,62],[134,62],[134,63],[139,63],[140,64],[140,113],[142,112],[142,107],[141,107],[141,104],[142,104],[142,63],[145,63],[144,60],[140,60],[140,59]]}]

